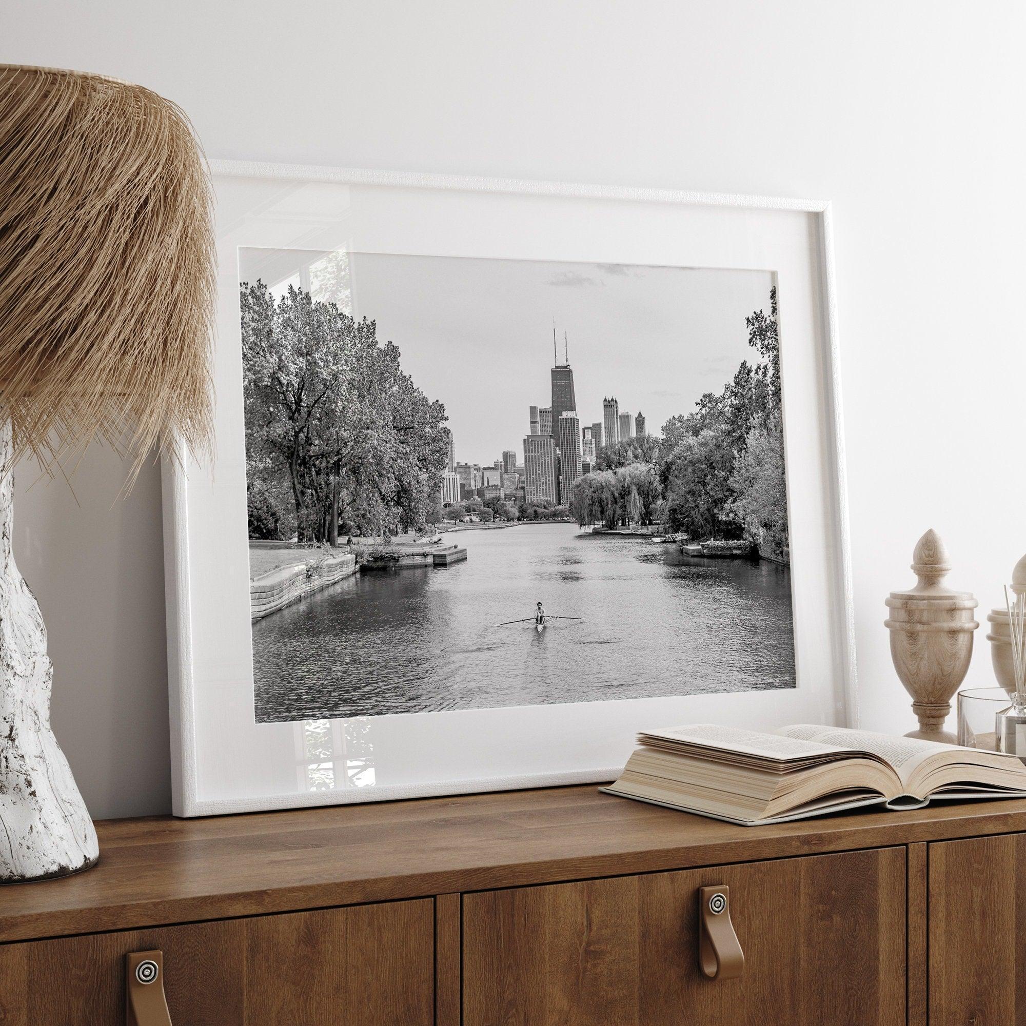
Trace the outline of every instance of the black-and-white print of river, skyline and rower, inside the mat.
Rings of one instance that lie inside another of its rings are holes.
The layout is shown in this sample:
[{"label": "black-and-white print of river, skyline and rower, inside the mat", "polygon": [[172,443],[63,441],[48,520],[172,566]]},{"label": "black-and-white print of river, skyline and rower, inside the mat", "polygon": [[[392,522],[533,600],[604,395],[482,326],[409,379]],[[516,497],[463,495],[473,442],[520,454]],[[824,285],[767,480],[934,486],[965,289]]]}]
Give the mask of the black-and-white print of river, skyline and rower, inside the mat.
[{"label": "black-and-white print of river, skyline and rower, inside the mat", "polygon": [[771,272],[239,280],[258,722],[795,686]]}]

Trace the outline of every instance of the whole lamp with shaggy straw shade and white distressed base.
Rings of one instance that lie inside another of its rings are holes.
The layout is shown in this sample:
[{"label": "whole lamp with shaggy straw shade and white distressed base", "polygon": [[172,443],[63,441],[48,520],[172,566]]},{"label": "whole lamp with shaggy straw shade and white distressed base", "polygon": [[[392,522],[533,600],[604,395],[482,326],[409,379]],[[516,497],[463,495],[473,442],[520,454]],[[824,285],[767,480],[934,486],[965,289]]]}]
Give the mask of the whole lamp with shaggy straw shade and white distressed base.
[{"label": "whole lamp with shaggy straw shade and white distressed base", "polygon": [[133,480],[154,448],[209,450],[211,206],[173,104],[0,66],[0,881],[98,855],[49,726],[45,629],[10,549],[11,468],[32,452],[52,473],[98,439],[132,455]]}]

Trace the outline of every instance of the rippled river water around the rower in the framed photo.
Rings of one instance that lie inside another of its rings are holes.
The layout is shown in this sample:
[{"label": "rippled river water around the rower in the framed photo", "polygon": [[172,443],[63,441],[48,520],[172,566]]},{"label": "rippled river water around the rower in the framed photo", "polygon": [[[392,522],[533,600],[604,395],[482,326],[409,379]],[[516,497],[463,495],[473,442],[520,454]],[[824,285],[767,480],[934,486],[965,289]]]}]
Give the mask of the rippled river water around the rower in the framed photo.
[{"label": "rippled river water around the rower in the framed photo", "polygon": [[[789,570],[518,524],[466,562],[371,571],[253,624],[256,720],[793,687]],[[541,600],[555,621],[538,634]]]}]

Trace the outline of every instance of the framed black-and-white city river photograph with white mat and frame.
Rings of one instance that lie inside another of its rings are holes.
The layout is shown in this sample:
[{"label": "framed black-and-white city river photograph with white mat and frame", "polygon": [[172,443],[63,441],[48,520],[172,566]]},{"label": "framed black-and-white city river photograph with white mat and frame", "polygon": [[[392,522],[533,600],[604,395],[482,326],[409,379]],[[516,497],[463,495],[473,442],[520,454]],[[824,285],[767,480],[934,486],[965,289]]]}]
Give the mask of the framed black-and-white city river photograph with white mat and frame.
[{"label": "framed black-and-white city river photograph with white mat and frame", "polygon": [[216,455],[164,470],[176,815],[854,723],[829,204],[213,172]]}]

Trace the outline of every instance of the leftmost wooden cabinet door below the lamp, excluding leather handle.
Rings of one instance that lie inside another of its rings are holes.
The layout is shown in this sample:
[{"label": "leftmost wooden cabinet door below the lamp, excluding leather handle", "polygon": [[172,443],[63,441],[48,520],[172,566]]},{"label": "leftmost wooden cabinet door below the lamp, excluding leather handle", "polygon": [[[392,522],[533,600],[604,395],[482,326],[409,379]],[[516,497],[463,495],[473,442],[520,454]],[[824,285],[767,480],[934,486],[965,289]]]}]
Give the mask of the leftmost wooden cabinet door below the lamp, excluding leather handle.
[{"label": "leftmost wooden cabinet door below the lamp, excluding leather handle", "polygon": [[173,1026],[431,1026],[433,935],[425,899],[0,945],[0,1023],[121,1026],[159,949]]}]

